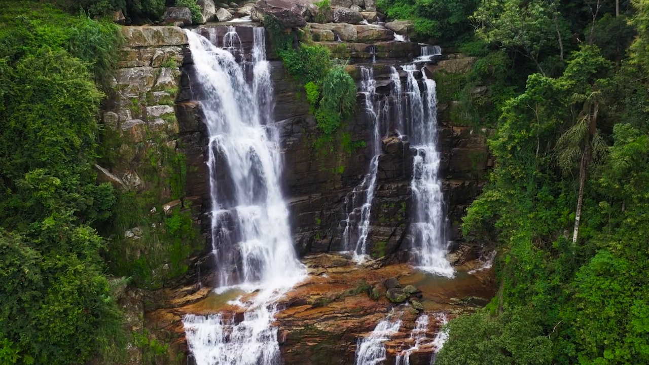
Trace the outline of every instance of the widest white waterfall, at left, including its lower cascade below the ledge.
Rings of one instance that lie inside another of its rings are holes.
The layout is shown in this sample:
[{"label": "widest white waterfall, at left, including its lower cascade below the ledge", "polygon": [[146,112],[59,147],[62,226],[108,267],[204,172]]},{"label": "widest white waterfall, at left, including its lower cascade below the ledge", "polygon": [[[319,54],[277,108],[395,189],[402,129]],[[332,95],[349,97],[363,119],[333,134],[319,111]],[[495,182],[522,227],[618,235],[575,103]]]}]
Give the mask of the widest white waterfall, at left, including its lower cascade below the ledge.
[{"label": "widest white waterfall, at left, including its lower cascade below the ledge", "polygon": [[207,164],[217,291],[235,286],[262,289],[252,303],[240,303],[247,308],[240,323],[221,314],[183,319],[198,365],[278,364],[273,302],[305,275],[295,256],[280,191],[282,158],[272,120],[273,89],[263,32],[254,29],[251,87],[237,62],[243,48],[234,27],[223,39],[225,49],[186,31],[210,136]]}]

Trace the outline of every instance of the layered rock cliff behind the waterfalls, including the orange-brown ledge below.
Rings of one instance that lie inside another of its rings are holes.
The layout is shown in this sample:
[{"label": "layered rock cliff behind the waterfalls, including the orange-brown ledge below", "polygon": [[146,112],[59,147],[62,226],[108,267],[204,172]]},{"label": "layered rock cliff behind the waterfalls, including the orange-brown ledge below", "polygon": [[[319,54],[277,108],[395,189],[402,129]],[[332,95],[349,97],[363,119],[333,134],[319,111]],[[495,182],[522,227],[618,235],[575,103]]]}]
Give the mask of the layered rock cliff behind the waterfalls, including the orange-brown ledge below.
[{"label": "layered rock cliff behind the waterfalls, including the orange-brown ledge below", "polygon": [[[250,55],[251,26],[235,27],[241,40],[243,61]],[[207,38],[221,40],[228,27],[208,24],[196,31]],[[310,23],[304,28],[312,40],[328,47],[332,55],[350,60],[347,71],[356,81],[360,82],[358,66],[372,67],[377,92],[389,99],[390,66],[406,64],[421,51],[417,44],[393,42],[393,34],[386,31],[371,25],[344,23]],[[210,271],[214,270],[214,260],[210,260],[211,246],[206,239],[209,221],[205,213],[210,208],[208,173],[204,163],[207,136],[201,108],[195,101],[199,95],[195,94],[197,88],[193,87],[193,66],[184,32],[178,27],[125,27],[123,34],[127,43],[121,53],[114,94],[103,115],[103,142],[110,147],[112,154],[97,168],[103,179],[118,184],[123,190],[132,192],[135,198],[143,200],[138,214],[164,216],[173,209],[187,212],[197,233],[193,237],[199,238],[184,242],[187,247],[183,247],[183,256],[178,261],[183,270],[171,270],[174,263],[169,260],[156,262],[152,267],[154,271],[178,274],[175,277],[166,275],[162,283],[155,286],[164,288],[156,291],[129,289],[121,302],[125,308],[136,309],[137,314],[129,316],[134,327],[144,326],[152,336],[172,344],[168,359],[182,359],[186,345],[181,316],[225,308],[222,297],[210,294]],[[336,38],[341,42],[334,42]],[[282,353],[287,364],[349,364],[353,362],[356,338],[371,331],[393,307],[384,296],[383,281],[399,277],[404,283],[426,285],[428,280],[417,277],[410,266],[392,264],[408,258],[410,147],[407,141],[395,136],[382,140],[383,154],[378,165],[368,250],[376,260],[357,267],[344,258],[323,255],[340,248],[340,222],[345,210],[345,197],[367,173],[370,152],[367,148],[358,148],[351,153],[319,153],[313,147],[317,135],[315,120],[309,113],[303,92],[286,74],[281,62],[273,58],[272,50],[268,51],[275,90],[275,120],[282,134],[285,195],[291,210],[294,242],[313,274],[306,283],[282,299],[284,310],[277,316],[284,338]],[[374,57],[378,62],[372,63]],[[431,62],[426,72],[430,72],[433,78],[440,70],[443,73],[461,73],[467,70],[467,64],[470,68],[471,58],[445,55]],[[404,79],[405,74],[401,73],[400,77]],[[443,154],[440,174],[448,201],[448,218],[454,231],[452,239],[458,239],[458,222],[465,207],[480,191],[480,176],[487,168],[488,153],[485,131],[458,125],[458,121],[453,121],[445,112],[452,108],[452,103],[452,100],[440,100],[443,110],[439,122]],[[347,121],[345,131],[350,133],[353,141],[367,141],[371,128],[361,107],[361,95],[358,105],[355,116]],[[164,158],[169,154],[182,155],[180,164],[177,160],[172,162]],[[186,173],[174,183],[173,177],[180,170]],[[217,179],[222,178],[217,176]],[[174,192],[178,184],[182,185],[182,194]],[[138,236],[142,230],[160,229],[153,224],[125,227],[129,230],[124,231],[124,237],[120,239],[129,239],[129,234]],[[171,249],[173,247],[169,247]],[[143,250],[138,255],[148,252]],[[475,252],[469,253],[456,263],[463,264],[475,256]],[[478,264],[472,262],[471,265]],[[424,291],[424,312],[454,313],[472,308],[476,305],[471,302],[472,297],[478,298],[478,305],[482,304],[484,299],[480,298],[490,297],[493,291],[489,271],[484,275],[469,276],[452,285],[440,284],[435,289]],[[378,298],[373,297],[373,288],[378,290]],[[236,310],[227,310],[237,315]],[[397,344],[404,342],[397,339],[406,339],[413,326],[414,314],[405,307],[402,312],[407,323],[403,329],[406,332],[398,334],[395,342],[388,344],[391,357],[400,351]],[[431,336],[435,328],[436,325],[429,329]],[[413,356],[411,364],[427,363],[430,351],[429,348],[421,360],[415,360],[417,356]]]}]

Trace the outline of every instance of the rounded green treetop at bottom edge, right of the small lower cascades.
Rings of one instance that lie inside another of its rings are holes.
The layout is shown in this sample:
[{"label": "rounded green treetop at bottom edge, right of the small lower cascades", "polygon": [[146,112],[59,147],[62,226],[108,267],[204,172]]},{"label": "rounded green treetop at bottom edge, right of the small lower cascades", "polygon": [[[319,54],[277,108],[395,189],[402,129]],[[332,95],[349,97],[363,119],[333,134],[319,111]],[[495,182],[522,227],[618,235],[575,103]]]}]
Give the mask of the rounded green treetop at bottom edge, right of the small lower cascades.
[{"label": "rounded green treetop at bottom edge, right of the small lower cascades", "polygon": [[448,323],[448,340],[435,364],[551,364],[552,342],[535,318],[528,307],[508,308],[496,318],[487,312],[459,316]]}]

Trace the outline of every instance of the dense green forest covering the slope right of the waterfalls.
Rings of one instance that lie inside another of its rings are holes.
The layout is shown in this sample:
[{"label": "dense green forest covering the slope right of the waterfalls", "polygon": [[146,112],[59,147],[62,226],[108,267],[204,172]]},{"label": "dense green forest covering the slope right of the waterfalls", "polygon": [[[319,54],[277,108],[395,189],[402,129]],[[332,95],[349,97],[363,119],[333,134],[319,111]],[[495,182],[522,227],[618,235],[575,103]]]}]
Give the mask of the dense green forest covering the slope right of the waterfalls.
[{"label": "dense green forest covering the slope right of the waterfalls", "polygon": [[477,58],[438,88],[493,131],[462,231],[498,251],[498,292],[435,363],[649,363],[649,1],[378,5]]}]

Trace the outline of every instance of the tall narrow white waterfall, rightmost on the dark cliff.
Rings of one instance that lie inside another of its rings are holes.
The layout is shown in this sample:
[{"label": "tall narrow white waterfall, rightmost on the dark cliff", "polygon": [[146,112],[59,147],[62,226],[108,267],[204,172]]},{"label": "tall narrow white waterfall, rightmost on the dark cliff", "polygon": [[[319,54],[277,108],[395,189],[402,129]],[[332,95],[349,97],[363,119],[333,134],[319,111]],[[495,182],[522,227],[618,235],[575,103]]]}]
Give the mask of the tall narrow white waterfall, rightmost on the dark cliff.
[{"label": "tall narrow white waterfall, rightmost on the dark cliff", "polygon": [[410,183],[414,205],[411,218],[413,249],[418,253],[419,268],[430,273],[453,277],[455,270],[446,258],[448,242],[444,195],[439,180],[440,153],[437,151],[437,96],[435,81],[423,73],[424,96],[414,65],[404,66],[408,73],[406,94],[410,101],[410,116],[406,127],[410,136],[413,157],[413,176]]}]

